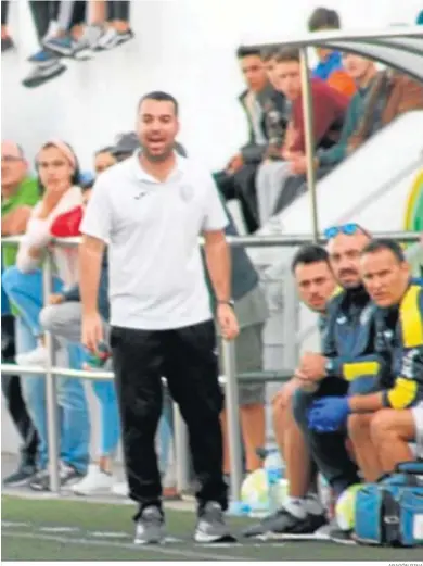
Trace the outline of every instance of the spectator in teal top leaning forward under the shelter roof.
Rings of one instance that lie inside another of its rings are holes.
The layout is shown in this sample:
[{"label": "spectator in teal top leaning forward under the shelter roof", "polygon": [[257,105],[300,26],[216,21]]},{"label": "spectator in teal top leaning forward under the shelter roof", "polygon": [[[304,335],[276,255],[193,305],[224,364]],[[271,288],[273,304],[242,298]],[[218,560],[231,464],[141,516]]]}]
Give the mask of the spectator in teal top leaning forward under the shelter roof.
[{"label": "spectator in teal top leaning forward under the shelter roof", "polygon": [[[334,166],[347,156],[348,140],[358,128],[363,116],[371,88],[377,75],[375,64],[369,59],[354,53],[344,53],[343,60],[346,71],[356,81],[357,92],[348,105],[339,141],[332,148],[322,148],[316,152],[316,167],[318,168]],[[307,171],[306,160],[304,158],[303,160],[298,159],[295,168],[297,174],[305,174]],[[303,189],[307,190],[307,185],[303,186]]]}]

